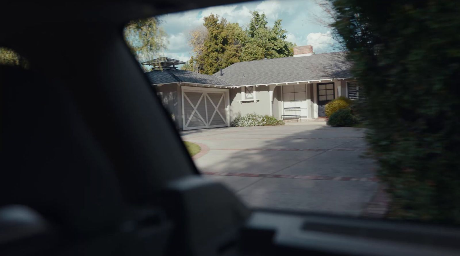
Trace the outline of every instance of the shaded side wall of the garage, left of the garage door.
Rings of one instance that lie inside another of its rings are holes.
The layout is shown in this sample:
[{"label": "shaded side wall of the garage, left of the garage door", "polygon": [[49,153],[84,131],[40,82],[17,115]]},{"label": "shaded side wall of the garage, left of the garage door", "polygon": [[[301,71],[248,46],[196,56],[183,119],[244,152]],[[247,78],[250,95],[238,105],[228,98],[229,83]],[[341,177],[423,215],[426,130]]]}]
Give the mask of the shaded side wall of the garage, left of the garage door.
[{"label": "shaded side wall of the garage, left of the garage door", "polygon": [[171,83],[160,87],[155,86],[155,89],[157,95],[161,98],[161,103],[176,123],[176,127],[182,128],[182,101],[180,99],[180,86],[177,83]]}]

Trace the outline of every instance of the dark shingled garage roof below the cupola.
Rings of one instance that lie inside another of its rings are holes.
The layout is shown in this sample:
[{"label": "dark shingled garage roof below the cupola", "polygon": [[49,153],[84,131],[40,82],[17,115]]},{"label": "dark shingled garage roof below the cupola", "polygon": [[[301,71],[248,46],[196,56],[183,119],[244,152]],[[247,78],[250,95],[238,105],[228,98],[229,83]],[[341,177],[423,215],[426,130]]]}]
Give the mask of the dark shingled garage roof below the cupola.
[{"label": "dark shingled garage roof below the cupola", "polygon": [[233,86],[233,84],[224,81],[217,76],[210,76],[180,69],[154,70],[145,74],[152,84],[184,82]]}]

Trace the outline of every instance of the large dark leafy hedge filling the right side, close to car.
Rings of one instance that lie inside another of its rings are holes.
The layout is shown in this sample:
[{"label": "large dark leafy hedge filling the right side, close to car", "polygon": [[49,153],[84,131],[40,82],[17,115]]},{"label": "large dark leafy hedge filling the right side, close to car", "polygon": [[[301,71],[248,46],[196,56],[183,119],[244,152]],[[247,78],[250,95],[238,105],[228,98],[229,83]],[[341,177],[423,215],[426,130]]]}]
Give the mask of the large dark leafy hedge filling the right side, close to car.
[{"label": "large dark leafy hedge filling the right side, close to car", "polygon": [[459,224],[459,2],[331,2],[391,216]]}]

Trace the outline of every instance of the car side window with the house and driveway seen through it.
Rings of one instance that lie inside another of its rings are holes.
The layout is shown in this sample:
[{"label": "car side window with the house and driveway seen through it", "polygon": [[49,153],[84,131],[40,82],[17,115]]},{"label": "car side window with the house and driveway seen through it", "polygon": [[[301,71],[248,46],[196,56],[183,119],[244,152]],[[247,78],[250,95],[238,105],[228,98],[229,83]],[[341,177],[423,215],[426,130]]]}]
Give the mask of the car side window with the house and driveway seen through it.
[{"label": "car side window with the house and driveway seen through it", "polygon": [[410,23],[459,5],[432,5],[253,1],[124,36],[201,174],[247,205],[459,223],[454,41]]}]

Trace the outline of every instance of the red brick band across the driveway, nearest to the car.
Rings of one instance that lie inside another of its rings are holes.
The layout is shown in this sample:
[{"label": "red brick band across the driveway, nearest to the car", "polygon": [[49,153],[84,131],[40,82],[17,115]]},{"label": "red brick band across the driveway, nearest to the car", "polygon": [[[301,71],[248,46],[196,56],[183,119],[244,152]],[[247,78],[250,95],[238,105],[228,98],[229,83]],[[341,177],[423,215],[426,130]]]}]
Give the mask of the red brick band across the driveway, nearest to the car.
[{"label": "red brick band across the driveway, nearest to the car", "polygon": [[230,173],[230,172],[201,172],[206,175],[219,176],[242,176],[242,177],[259,177],[259,178],[299,178],[299,179],[317,179],[317,180],[339,180],[339,181],[378,181],[377,178],[363,177],[334,177],[319,175],[285,175],[285,174],[263,174],[263,173]]}]

